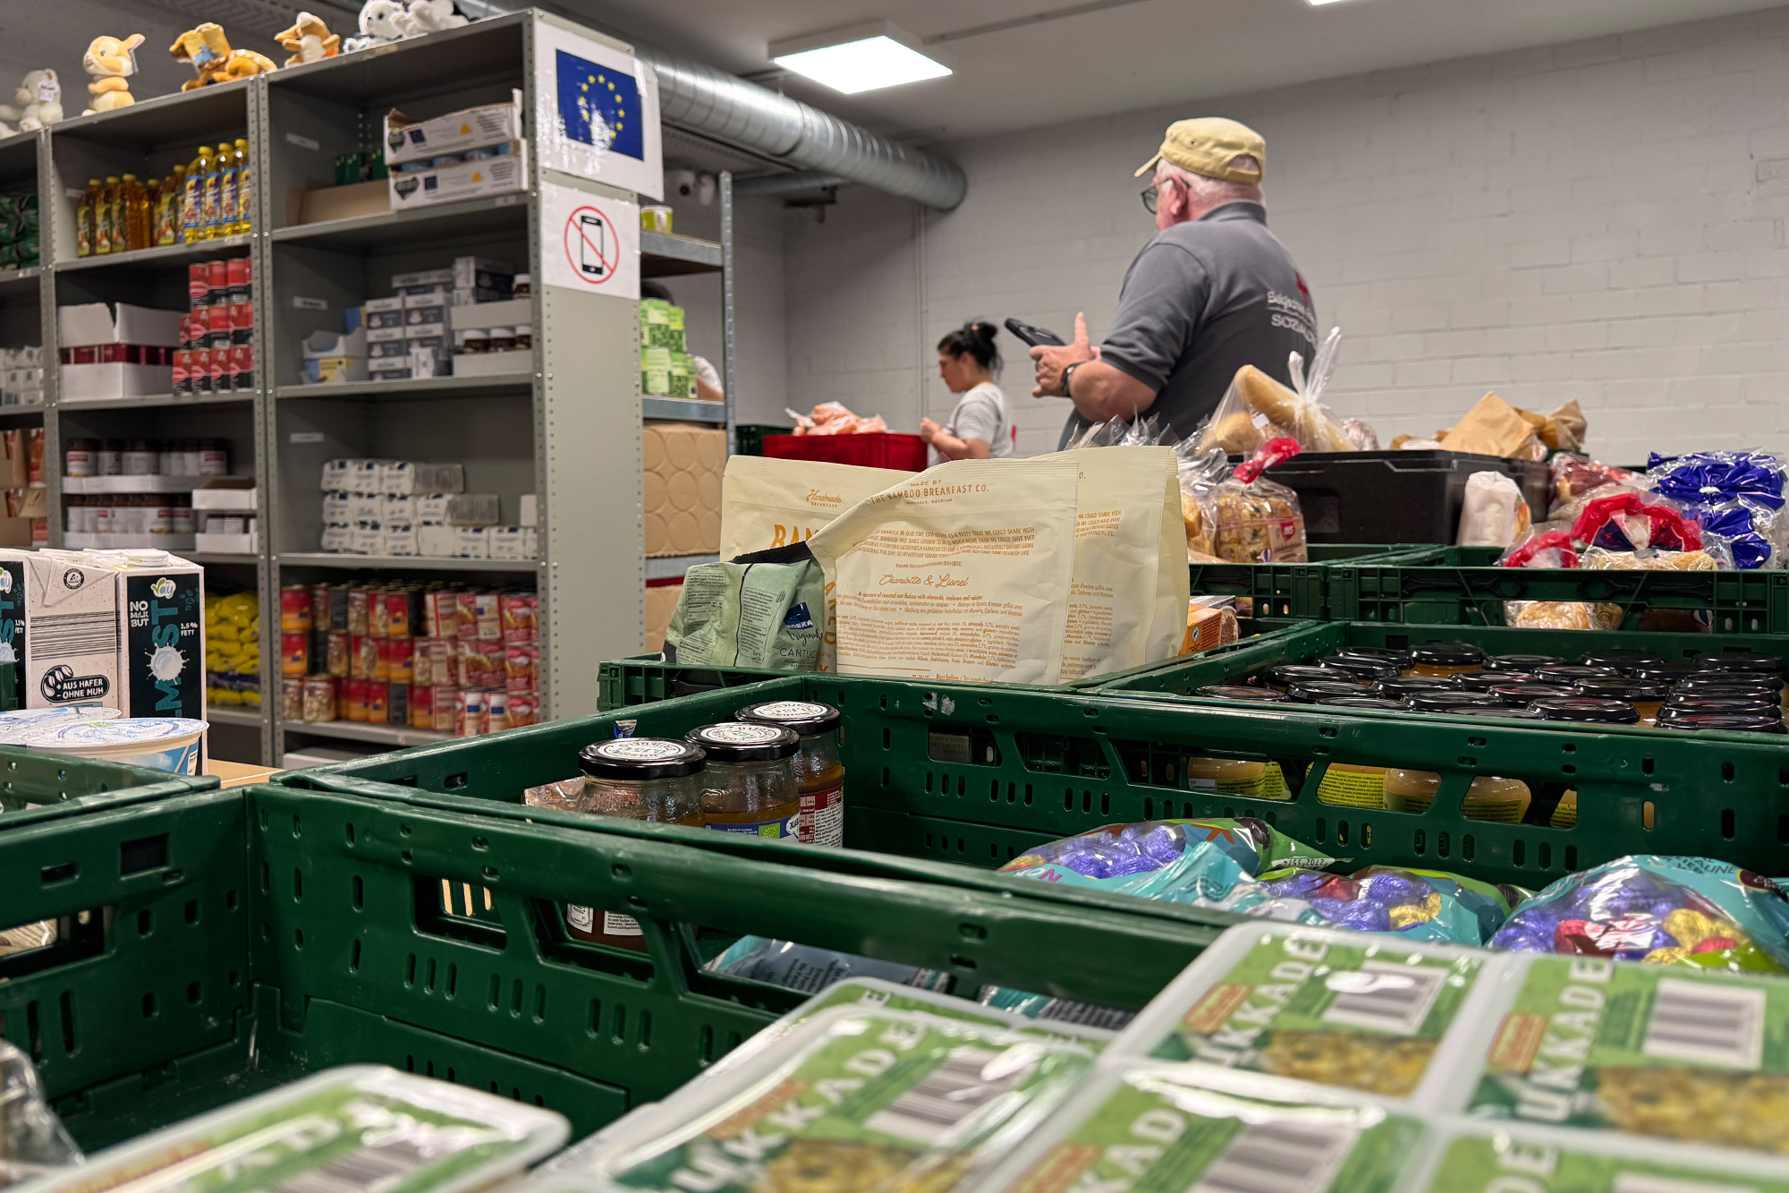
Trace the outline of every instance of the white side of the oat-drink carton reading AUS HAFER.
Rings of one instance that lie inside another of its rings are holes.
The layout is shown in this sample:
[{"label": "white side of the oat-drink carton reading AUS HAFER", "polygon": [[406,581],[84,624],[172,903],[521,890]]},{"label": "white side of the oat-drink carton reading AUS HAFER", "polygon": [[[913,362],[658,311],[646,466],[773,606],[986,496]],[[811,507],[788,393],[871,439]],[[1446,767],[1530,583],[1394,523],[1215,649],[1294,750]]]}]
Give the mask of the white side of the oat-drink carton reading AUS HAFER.
[{"label": "white side of the oat-drink carton reading AUS HAFER", "polygon": [[0,550],[0,627],[11,627],[14,656],[23,650],[25,708],[122,708],[114,575],[45,552]]}]

